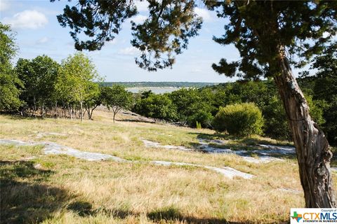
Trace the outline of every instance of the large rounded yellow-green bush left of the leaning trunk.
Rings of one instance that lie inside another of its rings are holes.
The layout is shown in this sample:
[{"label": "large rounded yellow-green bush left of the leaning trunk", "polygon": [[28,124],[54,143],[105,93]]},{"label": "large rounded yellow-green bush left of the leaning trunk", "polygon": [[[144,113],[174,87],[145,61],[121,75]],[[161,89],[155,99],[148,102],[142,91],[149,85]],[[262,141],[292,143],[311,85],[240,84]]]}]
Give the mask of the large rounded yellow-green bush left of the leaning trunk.
[{"label": "large rounded yellow-green bush left of the leaning trunk", "polygon": [[263,117],[260,109],[253,103],[232,104],[220,107],[213,120],[213,127],[220,132],[237,136],[261,134]]}]

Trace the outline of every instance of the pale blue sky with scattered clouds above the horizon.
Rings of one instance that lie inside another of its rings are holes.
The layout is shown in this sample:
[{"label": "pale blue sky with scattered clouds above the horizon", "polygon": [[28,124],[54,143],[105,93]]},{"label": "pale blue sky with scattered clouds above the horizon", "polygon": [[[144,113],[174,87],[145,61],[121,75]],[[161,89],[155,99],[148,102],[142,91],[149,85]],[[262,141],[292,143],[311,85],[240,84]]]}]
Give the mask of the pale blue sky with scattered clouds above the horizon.
[{"label": "pale blue sky with scattered clouds above the horizon", "polygon": [[[76,1],[75,1],[76,2]],[[74,41],[69,32],[58,23],[56,15],[62,13],[65,5],[74,1],[49,0],[0,0],[0,22],[11,25],[16,33],[18,58],[33,59],[38,55],[48,55],[61,62],[74,54]],[[196,8],[196,13],[204,20],[199,36],[190,39],[187,50],[176,57],[173,69],[149,72],[135,64],[138,50],[133,48],[130,21],[141,22],[146,18],[145,2],[138,2],[138,15],[124,22],[121,32],[114,41],[106,43],[101,50],[88,52],[105,81],[138,82],[138,81],[188,81],[225,83],[233,79],[219,75],[211,68],[221,58],[231,62],[239,59],[239,52],[234,45],[219,45],[212,40],[213,36],[224,34],[225,20],[216,17],[214,12],[206,8]]]}]

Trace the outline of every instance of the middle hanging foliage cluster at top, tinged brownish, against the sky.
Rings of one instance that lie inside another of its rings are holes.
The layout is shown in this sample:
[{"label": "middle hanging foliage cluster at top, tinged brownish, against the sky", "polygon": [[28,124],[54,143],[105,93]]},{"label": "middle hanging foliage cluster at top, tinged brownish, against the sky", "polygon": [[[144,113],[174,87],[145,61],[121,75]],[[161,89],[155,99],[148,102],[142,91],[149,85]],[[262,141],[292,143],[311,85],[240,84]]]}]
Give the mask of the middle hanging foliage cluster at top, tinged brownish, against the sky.
[{"label": "middle hanging foliage cluster at top, tinged brownish, against the sky", "polygon": [[[171,67],[175,55],[197,35],[202,19],[194,13],[194,1],[148,1],[149,17],[143,24],[131,22],[131,44],[141,51],[136,64],[148,71]],[[150,53],[149,53],[150,52]]]}]

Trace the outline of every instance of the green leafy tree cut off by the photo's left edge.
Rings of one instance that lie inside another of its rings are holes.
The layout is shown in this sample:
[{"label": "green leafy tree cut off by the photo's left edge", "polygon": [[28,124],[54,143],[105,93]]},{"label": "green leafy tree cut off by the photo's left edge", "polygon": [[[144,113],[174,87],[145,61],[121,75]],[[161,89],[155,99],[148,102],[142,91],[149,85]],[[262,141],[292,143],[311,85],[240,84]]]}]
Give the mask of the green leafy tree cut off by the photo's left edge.
[{"label": "green leafy tree cut off by the photo's left edge", "polygon": [[11,33],[11,28],[1,22],[0,49],[0,111],[16,110],[22,105],[19,99],[20,90],[18,90],[18,86],[22,83],[11,64],[11,59],[17,50],[15,36]]}]

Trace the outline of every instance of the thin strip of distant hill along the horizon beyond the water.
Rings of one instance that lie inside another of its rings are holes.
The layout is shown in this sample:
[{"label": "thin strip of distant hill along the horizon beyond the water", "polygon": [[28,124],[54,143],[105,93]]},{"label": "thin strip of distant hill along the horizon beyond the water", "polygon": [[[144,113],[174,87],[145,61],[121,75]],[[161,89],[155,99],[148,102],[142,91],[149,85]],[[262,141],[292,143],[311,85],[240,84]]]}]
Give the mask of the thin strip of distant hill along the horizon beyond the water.
[{"label": "thin strip of distant hill along the horizon beyond the water", "polygon": [[102,86],[123,85],[125,87],[205,87],[219,83],[192,83],[192,82],[104,82]]}]

